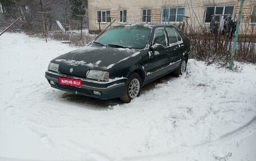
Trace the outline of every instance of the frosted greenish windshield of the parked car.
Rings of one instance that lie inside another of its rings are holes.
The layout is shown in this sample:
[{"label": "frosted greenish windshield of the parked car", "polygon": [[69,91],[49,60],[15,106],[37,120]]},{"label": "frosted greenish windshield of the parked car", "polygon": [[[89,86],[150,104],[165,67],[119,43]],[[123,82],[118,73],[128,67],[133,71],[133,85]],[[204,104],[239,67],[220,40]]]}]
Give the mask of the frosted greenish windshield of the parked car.
[{"label": "frosted greenish windshield of the parked car", "polygon": [[145,48],[150,28],[145,27],[112,27],[99,36],[94,44],[116,48]]}]

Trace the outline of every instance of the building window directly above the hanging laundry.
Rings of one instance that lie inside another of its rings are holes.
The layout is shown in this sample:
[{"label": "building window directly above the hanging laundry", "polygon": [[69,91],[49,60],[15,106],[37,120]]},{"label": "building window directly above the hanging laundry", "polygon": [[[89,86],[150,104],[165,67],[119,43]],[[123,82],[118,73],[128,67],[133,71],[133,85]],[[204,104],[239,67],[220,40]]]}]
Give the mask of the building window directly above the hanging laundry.
[{"label": "building window directly above the hanging laundry", "polygon": [[221,15],[224,15],[225,19],[228,15],[233,16],[233,12],[234,6],[207,6],[204,22],[211,22],[212,15],[215,15],[215,20],[220,22]]}]

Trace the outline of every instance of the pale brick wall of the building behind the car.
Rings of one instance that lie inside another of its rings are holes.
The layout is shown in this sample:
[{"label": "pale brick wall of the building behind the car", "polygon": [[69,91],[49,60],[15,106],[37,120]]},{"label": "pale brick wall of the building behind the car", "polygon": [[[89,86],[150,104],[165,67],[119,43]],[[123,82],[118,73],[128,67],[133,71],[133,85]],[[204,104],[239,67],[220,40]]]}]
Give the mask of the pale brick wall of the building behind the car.
[{"label": "pale brick wall of the building behind the car", "polygon": [[[240,1],[237,0],[179,0],[175,1],[158,1],[158,0],[88,0],[88,15],[89,15],[89,27],[90,30],[98,30],[98,24],[96,23],[97,11],[111,11],[111,16],[116,16],[117,21],[113,25],[119,23],[119,10],[127,10],[127,22],[126,24],[132,24],[134,22],[141,23],[141,9],[151,8],[152,19],[151,23],[161,23],[161,15],[163,7],[185,7],[185,16],[189,16],[189,24],[193,25],[205,25],[205,9],[206,6],[235,6],[234,16],[237,17],[239,13]],[[245,1],[243,11],[243,25],[249,25],[250,14],[252,12],[252,5],[256,4],[255,1]],[[113,18],[112,18],[113,19]],[[104,24],[103,24],[104,26]],[[252,26],[252,25],[250,25]]]}]

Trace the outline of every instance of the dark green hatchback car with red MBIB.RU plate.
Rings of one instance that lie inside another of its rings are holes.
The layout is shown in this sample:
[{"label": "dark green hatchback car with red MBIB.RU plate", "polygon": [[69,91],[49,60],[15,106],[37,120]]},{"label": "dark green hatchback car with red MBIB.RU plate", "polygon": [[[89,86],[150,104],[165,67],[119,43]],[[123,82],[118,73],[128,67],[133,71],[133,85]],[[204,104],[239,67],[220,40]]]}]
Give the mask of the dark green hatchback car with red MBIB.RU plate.
[{"label": "dark green hatchback car with red MBIB.RU plate", "polygon": [[120,25],[85,48],[54,58],[45,78],[70,93],[130,102],[143,85],[170,72],[182,75],[189,54],[189,39],[175,26]]}]

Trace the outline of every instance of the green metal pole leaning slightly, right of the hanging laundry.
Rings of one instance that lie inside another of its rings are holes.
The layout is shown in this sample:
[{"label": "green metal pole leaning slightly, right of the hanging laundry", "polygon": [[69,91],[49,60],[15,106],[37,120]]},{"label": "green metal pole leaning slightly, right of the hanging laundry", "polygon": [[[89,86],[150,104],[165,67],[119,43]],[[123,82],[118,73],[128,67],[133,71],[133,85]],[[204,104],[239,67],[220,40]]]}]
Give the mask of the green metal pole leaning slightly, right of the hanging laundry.
[{"label": "green metal pole leaning slightly, right of the hanging laundry", "polygon": [[239,28],[240,28],[240,22],[241,22],[243,8],[244,8],[244,0],[241,0],[240,8],[239,8],[239,14],[238,14],[238,19],[237,19],[237,24],[236,24],[234,44],[233,44],[233,48],[232,48],[232,52],[231,52],[231,59],[230,59],[230,66],[229,66],[230,70],[232,70],[233,66],[234,66],[234,58],[236,56],[236,43],[237,43],[237,39],[238,39],[238,34],[239,34]]}]

